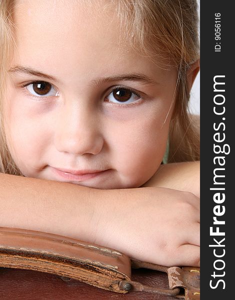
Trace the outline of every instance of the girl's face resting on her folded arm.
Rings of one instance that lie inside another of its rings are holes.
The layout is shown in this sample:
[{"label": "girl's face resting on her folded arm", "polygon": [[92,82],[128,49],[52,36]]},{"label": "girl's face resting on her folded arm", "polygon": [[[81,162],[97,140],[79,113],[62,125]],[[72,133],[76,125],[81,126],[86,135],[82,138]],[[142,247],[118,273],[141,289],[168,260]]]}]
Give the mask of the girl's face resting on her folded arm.
[{"label": "girl's face resting on her folded arm", "polygon": [[164,155],[177,72],[119,42],[110,1],[87,2],[16,3],[7,143],[25,176],[138,187]]}]

